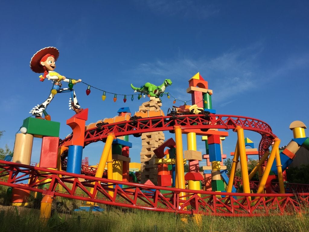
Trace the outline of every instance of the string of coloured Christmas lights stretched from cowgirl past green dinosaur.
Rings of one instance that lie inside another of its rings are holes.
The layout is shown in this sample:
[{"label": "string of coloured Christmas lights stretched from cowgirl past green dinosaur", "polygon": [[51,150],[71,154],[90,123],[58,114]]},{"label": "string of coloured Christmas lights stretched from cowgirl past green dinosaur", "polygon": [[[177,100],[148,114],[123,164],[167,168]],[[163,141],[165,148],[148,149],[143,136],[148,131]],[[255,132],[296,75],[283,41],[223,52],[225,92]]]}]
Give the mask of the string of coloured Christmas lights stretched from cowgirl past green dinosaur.
[{"label": "string of coloured Christmas lights stretched from cowgirl past green dinosaur", "polygon": [[[72,82],[70,81],[70,83],[69,83],[69,88],[70,88],[70,84],[71,84],[71,83],[72,83]],[[141,99],[142,97],[144,97],[144,98],[146,97],[146,94],[145,94],[145,93],[137,93],[137,94],[121,94],[121,93],[114,93],[114,92],[108,92],[108,91],[106,91],[106,90],[97,88],[97,87],[95,87],[95,86],[93,86],[93,85],[90,85],[90,84],[87,84],[87,83],[85,83],[85,82],[83,82],[83,81],[82,81],[82,83],[87,85],[87,89],[86,89],[86,94],[87,94],[87,96],[91,93],[91,88],[95,88],[95,89],[97,89],[97,90],[103,92],[103,95],[102,95],[102,100],[103,100],[103,101],[105,101],[105,99],[106,99],[106,93],[114,94],[114,98],[113,98],[114,102],[117,101],[117,96],[124,96],[124,97],[123,97],[123,102],[126,102],[126,101],[127,101],[127,95],[131,95],[131,101],[134,100],[134,96],[136,96],[136,95],[138,95],[138,100]],[[72,84],[72,85],[73,85],[73,84]],[[72,87],[73,87],[73,86],[72,86]],[[169,92],[168,92],[168,93],[161,93],[161,94],[160,94],[161,97],[163,97],[163,95],[167,95],[167,98],[168,98],[168,99],[170,99],[170,97],[174,98],[173,104],[175,104],[176,101],[182,101],[182,102],[184,102],[184,104],[186,105],[187,102],[192,101],[192,100],[183,101],[183,100],[180,100],[180,99],[176,99],[176,98],[173,97],[173,95],[172,95],[171,93],[169,93]]]}]

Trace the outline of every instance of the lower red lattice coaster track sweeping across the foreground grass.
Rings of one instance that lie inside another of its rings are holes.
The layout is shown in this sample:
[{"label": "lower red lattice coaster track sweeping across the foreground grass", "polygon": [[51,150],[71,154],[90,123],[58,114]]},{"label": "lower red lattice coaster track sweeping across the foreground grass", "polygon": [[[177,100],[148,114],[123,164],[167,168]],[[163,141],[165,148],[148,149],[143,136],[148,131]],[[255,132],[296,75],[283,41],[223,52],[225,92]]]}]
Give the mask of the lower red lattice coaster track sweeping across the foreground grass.
[{"label": "lower red lattice coaster track sweeping across the foreground grass", "polygon": [[[0,161],[0,184],[54,196],[67,197],[121,207],[181,214],[214,216],[268,216],[301,213],[309,206],[309,193],[295,194],[243,194],[175,189],[121,182],[104,178],[49,170],[29,165]],[[59,175],[62,178],[59,178]],[[6,178],[3,178],[6,177]],[[45,182],[49,180],[49,182]],[[18,182],[27,181],[28,185]],[[94,184],[92,184],[94,182]],[[101,184],[99,184],[101,182]],[[46,189],[38,186],[49,183]],[[129,187],[120,188],[119,184]],[[93,193],[89,191],[94,188]],[[161,193],[160,190],[167,190]],[[109,194],[109,191],[113,195]],[[184,192],[184,196],[180,196]],[[201,196],[199,196],[200,194]],[[238,199],[234,199],[236,196]],[[250,200],[249,196],[251,196]],[[186,199],[186,200],[184,200]],[[181,203],[181,204],[180,204]],[[192,207],[194,205],[194,207]]]}]

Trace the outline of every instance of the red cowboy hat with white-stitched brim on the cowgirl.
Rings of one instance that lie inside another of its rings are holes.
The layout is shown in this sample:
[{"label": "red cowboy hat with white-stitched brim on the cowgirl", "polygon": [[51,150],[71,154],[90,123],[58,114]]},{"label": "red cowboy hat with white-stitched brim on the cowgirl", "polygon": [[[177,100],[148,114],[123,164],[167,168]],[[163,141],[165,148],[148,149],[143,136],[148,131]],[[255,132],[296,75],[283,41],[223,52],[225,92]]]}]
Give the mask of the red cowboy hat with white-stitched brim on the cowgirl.
[{"label": "red cowboy hat with white-stitched brim on the cowgirl", "polygon": [[34,54],[31,58],[30,68],[32,71],[37,72],[37,73],[44,72],[43,66],[40,64],[40,61],[43,58],[43,56],[45,56],[46,54],[53,55],[55,57],[55,61],[59,57],[59,51],[57,48],[47,47],[47,48],[41,49],[36,54]]}]

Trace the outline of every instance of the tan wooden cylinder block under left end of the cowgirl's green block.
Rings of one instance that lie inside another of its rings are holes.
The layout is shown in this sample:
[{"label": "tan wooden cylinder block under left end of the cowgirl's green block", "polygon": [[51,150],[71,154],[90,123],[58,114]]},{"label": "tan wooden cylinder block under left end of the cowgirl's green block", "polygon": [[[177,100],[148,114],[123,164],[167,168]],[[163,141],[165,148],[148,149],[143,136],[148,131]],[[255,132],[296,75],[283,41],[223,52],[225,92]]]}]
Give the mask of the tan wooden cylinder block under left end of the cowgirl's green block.
[{"label": "tan wooden cylinder block under left end of the cowgirl's green block", "polygon": [[33,135],[16,134],[13,161],[19,164],[30,165]]}]

